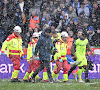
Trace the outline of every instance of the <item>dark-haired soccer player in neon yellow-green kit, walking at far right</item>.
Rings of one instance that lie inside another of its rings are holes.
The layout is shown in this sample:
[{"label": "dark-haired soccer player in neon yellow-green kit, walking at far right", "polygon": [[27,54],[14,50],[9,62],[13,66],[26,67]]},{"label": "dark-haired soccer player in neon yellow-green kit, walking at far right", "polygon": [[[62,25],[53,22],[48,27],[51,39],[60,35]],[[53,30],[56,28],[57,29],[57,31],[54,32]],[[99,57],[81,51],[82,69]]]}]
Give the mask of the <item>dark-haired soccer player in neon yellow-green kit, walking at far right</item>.
[{"label": "dark-haired soccer player in neon yellow-green kit, walking at far right", "polygon": [[[81,76],[82,76],[82,72],[85,71],[87,68],[87,59],[85,56],[86,47],[91,51],[89,43],[88,43],[88,39],[86,38],[86,35],[82,33],[82,35],[80,35],[79,38],[72,45],[72,53],[74,57],[77,58],[77,61],[82,61],[82,63],[78,65],[79,66],[79,70],[78,70],[79,82],[84,82]],[[75,48],[76,48],[76,51],[75,51]],[[94,53],[92,51],[91,53],[94,56]]]}]

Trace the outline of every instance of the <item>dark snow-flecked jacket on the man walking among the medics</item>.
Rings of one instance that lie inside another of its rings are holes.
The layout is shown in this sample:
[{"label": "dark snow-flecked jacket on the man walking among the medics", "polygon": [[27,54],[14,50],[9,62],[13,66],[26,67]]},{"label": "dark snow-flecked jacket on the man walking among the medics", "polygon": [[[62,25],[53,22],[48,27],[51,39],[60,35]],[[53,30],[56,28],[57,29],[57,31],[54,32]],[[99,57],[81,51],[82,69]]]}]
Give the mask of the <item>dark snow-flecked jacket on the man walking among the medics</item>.
[{"label": "dark snow-flecked jacket on the man walking among the medics", "polygon": [[34,55],[36,56],[39,51],[40,60],[50,61],[51,50],[53,49],[53,44],[51,37],[47,36],[44,32],[41,34],[37,45],[35,47]]}]

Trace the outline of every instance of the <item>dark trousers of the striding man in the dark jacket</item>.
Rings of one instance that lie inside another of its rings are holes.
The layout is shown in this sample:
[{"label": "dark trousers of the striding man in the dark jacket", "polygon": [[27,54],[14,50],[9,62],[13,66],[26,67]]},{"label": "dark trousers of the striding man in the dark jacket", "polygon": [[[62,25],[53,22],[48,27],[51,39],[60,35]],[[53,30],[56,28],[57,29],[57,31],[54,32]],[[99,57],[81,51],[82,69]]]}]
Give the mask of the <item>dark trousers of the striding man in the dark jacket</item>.
[{"label": "dark trousers of the striding man in the dark jacket", "polygon": [[50,81],[53,81],[53,78],[51,76],[51,71],[50,71],[50,62],[46,60],[42,60],[40,66],[37,68],[37,70],[33,73],[32,78],[35,78],[35,76],[44,69],[44,67],[47,68],[47,73]]}]

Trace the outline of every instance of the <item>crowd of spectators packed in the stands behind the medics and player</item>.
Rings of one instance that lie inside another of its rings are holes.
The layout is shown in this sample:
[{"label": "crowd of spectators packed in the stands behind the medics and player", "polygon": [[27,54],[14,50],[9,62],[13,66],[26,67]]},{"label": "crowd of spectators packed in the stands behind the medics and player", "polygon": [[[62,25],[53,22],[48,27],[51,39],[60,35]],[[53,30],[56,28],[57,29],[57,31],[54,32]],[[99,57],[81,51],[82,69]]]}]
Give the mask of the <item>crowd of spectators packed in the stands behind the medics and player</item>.
[{"label": "crowd of spectators packed in the stands behind the medics and player", "polygon": [[[34,9],[37,1],[39,10]],[[82,30],[91,46],[100,46],[100,0],[0,0],[0,48],[16,25],[22,28],[25,48],[33,33],[46,27],[66,31],[68,42]]]}]

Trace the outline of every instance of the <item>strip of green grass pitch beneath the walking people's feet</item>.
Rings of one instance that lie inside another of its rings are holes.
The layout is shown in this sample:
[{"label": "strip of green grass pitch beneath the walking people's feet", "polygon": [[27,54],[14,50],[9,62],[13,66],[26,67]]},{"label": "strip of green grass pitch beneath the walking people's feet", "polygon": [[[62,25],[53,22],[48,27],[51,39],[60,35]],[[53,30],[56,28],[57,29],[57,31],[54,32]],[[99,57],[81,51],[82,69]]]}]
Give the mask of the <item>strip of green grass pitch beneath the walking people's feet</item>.
[{"label": "strip of green grass pitch beneath the walking people's feet", "polygon": [[100,90],[100,79],[91,83],[11,83],[10,79],[0,79],[0,90]]}]

